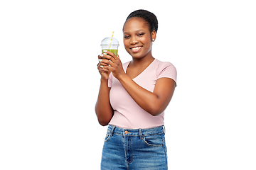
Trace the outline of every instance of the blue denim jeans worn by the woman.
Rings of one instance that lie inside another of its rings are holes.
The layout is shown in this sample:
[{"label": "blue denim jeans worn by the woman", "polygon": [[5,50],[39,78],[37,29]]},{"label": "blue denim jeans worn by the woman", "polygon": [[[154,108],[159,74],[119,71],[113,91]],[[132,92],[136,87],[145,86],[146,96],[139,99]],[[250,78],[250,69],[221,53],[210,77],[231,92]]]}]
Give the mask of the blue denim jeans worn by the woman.
[{"label": "blue denim jeans worn by the woman", "polygon": [[167,169],[163,126],[122,129],[109,125],[102,151],[101,169]]}]

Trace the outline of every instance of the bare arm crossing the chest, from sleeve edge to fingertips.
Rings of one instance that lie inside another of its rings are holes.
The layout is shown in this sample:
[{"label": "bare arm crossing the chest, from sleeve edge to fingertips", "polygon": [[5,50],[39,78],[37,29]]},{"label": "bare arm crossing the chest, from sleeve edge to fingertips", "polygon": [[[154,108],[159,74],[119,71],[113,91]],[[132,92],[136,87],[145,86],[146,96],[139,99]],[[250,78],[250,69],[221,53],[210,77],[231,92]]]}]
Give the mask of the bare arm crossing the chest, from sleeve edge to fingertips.
[{"label": "bare arm crossing the chest, from sleeve edge to fingertips", "polygon": [[174,94],[175,81],[169,78],[158,79],[154,91],[147,91],[125,74],[119,57],[116,57],[112,52],[106,53],[109,55],[104,56],[108,60],[102,61],[106,64],[104,68],[112,72],[113,76],[120,81],[124,89],[141,108],[154,116],[161,114],[168,106]]}]

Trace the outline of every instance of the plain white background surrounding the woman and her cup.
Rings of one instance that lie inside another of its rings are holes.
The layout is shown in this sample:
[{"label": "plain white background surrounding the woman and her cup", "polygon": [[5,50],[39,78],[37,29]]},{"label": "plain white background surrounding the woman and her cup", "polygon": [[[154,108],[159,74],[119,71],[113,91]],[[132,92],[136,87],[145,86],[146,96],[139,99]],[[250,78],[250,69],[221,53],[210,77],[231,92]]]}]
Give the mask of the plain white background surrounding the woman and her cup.
[{"label": "plain white background surrounding the woman and her cup", "polygon": [[156,14],[158,60],[178,71],[169,169],[256,169],[254,1],[1,1],[0,169],[100,169],[100,42]]}]

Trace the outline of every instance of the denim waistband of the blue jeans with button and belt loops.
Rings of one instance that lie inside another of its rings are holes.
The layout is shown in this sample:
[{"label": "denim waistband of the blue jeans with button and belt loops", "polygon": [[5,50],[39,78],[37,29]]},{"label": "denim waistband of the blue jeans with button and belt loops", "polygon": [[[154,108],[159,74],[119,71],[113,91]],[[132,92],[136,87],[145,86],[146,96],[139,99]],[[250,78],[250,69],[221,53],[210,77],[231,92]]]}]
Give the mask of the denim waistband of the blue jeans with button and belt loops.
[{"label": "denim waistband of the blue jeans with button and belt loops", "polygon": [[113,133],[115,133],[117,135],[143,137],[148,135],[158,135],[161,133],[165,133],[165,128],[163,125],[157,128],[150,128],[150,129],[123,129],[123,128],[117,128],[114,125],[109,125],[107,131],[110,132],[111,136]]}]

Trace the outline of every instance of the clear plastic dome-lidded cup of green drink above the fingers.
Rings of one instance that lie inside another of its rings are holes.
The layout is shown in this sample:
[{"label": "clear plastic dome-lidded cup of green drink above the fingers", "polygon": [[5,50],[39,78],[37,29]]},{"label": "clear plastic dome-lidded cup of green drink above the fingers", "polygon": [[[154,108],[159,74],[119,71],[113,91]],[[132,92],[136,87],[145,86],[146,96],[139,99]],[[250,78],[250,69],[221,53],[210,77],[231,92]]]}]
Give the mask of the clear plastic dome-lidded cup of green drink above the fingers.
[{"label": "clear plastic dome-lidded cup of green drink above the fingers", "polygon": [[119,46],[118,40],[115,38],[111,38],[111,37],[104,38],[101,42],[102,53],[104,53],[103,50],[108,50],[110,52],[113,52],[114,55],[117,56],[118,46]]}]

